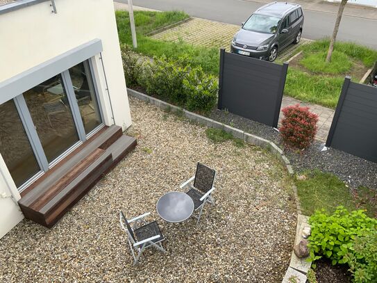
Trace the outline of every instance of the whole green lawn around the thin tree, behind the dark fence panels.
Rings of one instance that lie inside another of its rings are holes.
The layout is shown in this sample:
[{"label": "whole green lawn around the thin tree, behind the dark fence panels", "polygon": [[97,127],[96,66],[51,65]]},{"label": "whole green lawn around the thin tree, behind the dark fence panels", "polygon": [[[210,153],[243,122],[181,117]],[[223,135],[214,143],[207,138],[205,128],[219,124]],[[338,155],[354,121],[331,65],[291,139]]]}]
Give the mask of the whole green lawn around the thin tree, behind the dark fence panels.
[{"label": "whole green lawn around the thin tree, behind the dark fence panels", "polygon": [[[317,40],[301,47],[301,65],[308,72],[290,67],[285,84],[285,94],[304,102],[335,108],[342,90],[344,76],[352,73],[356,60],[371,67],[377,60],[377,51],[353,42],[335,42],[333,57],[326,63],[329,40]],[[357,81],[357,80],[356,80]]]}]

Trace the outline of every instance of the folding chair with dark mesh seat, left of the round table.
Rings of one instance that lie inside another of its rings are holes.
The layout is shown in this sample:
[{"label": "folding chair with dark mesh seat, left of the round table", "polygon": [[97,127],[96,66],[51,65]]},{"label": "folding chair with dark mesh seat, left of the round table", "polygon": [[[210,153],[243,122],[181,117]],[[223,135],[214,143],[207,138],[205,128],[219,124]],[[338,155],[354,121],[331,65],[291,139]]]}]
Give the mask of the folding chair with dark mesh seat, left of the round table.
[{"label": "folding chair with dark mesh seat, left of the round table", "polygon": [[[167,252],[162,248],[161,242],[165,240],[164,236],[160,231],[160,227],[156,221],[151,223],[146,223],[144,218],[145,216],[149,216],[150,212],[144,213],[141,216],[137,216],[131,220],[127,220],[124,216],[123,212],[120,211],[119,213],[119,222],[127,233],[128,244],[130,245],[131,252],[133,255],[133,265],[137,263],[142,255],[142,252],[145,248],[149,248],[153,246],[154,248],[160,250],[161,252]],[[133,227],[131,228],[129,223],[133,223]],[[139,223],[144,223],[143,226],[138,227]],[[137,253],[137,255],[135,254]]]}]

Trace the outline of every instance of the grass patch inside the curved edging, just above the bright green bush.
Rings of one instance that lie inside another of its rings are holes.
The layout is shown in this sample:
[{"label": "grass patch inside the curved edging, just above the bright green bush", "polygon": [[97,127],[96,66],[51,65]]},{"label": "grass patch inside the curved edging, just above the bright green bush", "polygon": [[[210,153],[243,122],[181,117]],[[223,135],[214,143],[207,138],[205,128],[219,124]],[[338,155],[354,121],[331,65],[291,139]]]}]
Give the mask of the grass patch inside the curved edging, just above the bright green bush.
[{"label": "grass patch inside the curved edging, just above the bright green bush", "polygon": [[355,197],[350,188],[333,174],[314,170],[305,171],[302,175],[305,175],[306,179],[295,180],[295,183],[301,209],[305,215],[311,215],[317,209],[333,213],[337,206],[342,205],[349,211],[367,209],[369,216],[376,216],[376,198],[365,197],[365,193],[373,193],[368,188],[362,188],[362,195]]}]

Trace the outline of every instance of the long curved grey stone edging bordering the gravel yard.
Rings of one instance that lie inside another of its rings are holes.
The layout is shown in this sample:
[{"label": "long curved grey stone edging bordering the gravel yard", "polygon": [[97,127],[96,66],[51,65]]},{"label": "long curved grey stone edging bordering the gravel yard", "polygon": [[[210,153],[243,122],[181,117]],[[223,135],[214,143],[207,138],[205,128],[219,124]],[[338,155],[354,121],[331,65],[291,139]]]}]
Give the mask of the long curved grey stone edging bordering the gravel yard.
[{"label": "long curved grey stone edging bordering the gravel yard", "polygon": [[[169,103],[164,102],[164,101],[157,99],[155,97],[145,95],[144,93],[138,92],[137,90],[127,88],[127,92],[128,92],[129,95],[136,97],[137,99],[143,100],[145,102],[149,102],[149,103],[156,105],[156,106],[163,108],[163,109],[169,108],[169,109],[171,109],[171,111],[176,112],[176,113],[177,112],[183,112],[185,117],[189,120],[192,120],[194,122],[198,122],[199,124],[203,124],[206,127],[215,128],[215,129],[222,129],[222,130],[228,132],[229,134],[232,134],[235,138],[240,138],[240,139],[244,140],[246,143],[249,143],[251,145],[257,145],[259,147],[267,149],[269,152],[271,152],[271,154],[274,154],[274,156],[276,156],[280,160],[281,163],[283,163],[283,165],[287,169],[287,172],[289,173],[290,176],[294,175],[294,170],[292,168],[292,165],[291,165],[290,161],[287,159],[287,157],[285,156],[285,154],[283,153],[283,150],[280,149],[280,147],[278,147],[275,143],[272,143],[270,140],[266,140],[265,138],[260,138],[259,136],[255,136],[253,134],[246,133],[245,131],[242,131],[240,129],[233,128],[231,126],[228,126],[226,124],[222,124],[222,123],[217,122],[215,120],[212,120],[210,118],[206,118],[206,117],[201,116],[199,114],[192,113],[192,112],[187,111],[187,110],[185,110],[181,107],[169,104]],[[298,213],[297,223],[296,223],[296,238],[295,238],[295,243],[296,243],[297,235],[300,235],[299,229],[301,229],[301,225],[299,225],[299,221],[300,221],[300,218],[301,218],[301,206],[300,206],[300,202],[299,202],[299,195],[297,195],[297,188],[294,184],[293,184],[292,188],[293,188],[293,191],[294,191],[294,198],[295,198],[295,201],[296,201],[296,209],[297,209],[297,213]],[[294,253],[292,252],[292,257],[293,257],[293,255],[294,255]],[[291,257],[291,262],[292,262],[292,257]],[[287,268],[287,273],[289,273],[290,270],[292,270],[292,269],[296,270],[296,268],[294,268],[294,267],[292,268],[290,266],[290,267]],[[304,272],[304,271],[301,271],[301,273],[302,272]],[[287,273],[286,273],[286,275],[287,275]]]}]

